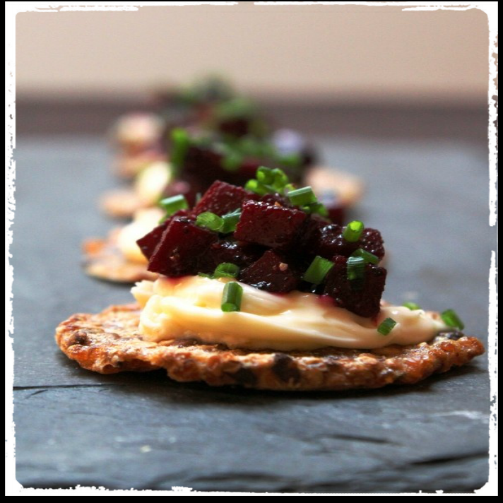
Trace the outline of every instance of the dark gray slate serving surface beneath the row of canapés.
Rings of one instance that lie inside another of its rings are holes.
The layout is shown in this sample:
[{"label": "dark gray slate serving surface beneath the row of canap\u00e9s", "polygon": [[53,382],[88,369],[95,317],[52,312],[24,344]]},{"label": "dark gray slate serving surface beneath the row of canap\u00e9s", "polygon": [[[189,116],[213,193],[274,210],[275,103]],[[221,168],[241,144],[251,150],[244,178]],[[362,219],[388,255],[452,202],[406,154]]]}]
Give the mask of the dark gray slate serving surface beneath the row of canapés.
[{"label": "dark gray slate serving surface beneath the row of canap\u00e9s", "polygon": [[[455,307],[487,340],[487,150],[463,143],[323,140],[367,179],[353,213],[389,250],[386,298]],[[24,487],[257,492],[471,492],[487,481],[487,358],[411,388],[271,393],[101,376],[59,353],[74,312],[130,302],[79,268],[84,237],[113,225],[101,138],[18,138],[14,266],[17,478]]]}]

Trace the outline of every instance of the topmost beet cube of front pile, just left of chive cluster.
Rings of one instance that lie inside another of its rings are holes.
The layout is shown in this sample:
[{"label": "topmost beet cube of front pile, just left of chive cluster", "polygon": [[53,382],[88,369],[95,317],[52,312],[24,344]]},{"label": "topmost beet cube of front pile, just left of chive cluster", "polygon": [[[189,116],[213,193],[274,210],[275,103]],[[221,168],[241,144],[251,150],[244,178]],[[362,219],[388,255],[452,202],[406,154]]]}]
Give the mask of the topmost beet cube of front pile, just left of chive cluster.
[{"label": "topmost beet cube of front pile, just left of chive cluster", "polygon": [[211,211],[217,215],[225,215],[230,211],[241,208],[243,201],[247,199],[258,199],[253,192],[247,191],[242,187],[236,187],[225,182],[217,180],[201,197],[201,201],[194,208],[194,215]]}]

